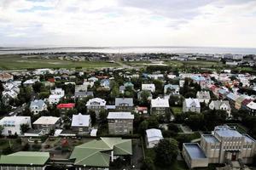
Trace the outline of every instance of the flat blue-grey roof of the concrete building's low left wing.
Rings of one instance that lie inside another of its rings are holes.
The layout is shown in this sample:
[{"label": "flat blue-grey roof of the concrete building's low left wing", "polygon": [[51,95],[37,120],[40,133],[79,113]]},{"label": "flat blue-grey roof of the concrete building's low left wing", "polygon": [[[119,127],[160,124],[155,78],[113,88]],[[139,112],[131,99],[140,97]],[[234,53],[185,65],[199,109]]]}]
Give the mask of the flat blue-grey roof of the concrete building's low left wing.
[{"label": "flat blue-grey roof of the concrete building's low left wing", "polygon": [[184,144],[185,150],[188,151],[189,156],[191,159],[204,159],[207,158],[201,147],[197,143],[185,143]]}]

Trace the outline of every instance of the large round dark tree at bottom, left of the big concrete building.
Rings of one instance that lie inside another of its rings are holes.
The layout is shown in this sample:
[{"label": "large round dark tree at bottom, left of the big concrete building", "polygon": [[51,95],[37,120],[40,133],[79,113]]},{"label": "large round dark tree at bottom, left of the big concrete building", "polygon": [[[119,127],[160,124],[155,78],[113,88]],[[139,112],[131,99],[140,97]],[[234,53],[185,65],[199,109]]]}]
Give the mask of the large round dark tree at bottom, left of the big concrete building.
[{"label": "large round dark tree at bottom, left of the big concrete building", "polygon": [[159,167],[169,167],[176,161],[178,154],[177,140],[161,139],[154,147],[155,164]]}]

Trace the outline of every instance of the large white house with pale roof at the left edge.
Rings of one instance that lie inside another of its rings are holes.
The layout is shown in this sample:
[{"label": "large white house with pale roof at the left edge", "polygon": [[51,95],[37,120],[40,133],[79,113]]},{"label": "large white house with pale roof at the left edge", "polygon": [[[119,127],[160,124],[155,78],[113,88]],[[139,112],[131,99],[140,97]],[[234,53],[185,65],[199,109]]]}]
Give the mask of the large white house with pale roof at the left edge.
[{"label": "large white house with pale roof at the left edge", "polygon": [[20,135],[21,129],[20,126],[26,124],[28,127],[31,127],[31,118],[30,116],[4,116],[0,120],[0,126],[3,127],[2,135]]}]

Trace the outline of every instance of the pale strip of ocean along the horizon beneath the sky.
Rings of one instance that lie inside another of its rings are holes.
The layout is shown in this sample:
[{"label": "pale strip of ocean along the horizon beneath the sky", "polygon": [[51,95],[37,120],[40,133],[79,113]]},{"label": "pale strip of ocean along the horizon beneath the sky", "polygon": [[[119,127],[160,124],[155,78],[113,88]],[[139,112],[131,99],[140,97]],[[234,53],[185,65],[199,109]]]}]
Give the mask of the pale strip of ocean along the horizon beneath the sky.
[{"label": "pale strip of ocean along the horizon beneath the sky", "polygon": [[0,48],[0,54],[97,52],[110,54],[166,53],[166,54],[256,54],[256,48],[211,47],[58,47],[58,48]]}]

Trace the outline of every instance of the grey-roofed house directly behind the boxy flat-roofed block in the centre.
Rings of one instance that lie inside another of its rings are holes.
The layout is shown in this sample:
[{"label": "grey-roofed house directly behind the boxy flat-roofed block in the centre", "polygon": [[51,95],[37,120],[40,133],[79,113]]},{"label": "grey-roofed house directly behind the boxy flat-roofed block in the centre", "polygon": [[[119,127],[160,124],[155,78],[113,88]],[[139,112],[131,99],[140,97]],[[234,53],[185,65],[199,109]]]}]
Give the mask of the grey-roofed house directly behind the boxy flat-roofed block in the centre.
[{"label": "grey-roofed house directly behind the boxy flat-roofed block in the centre", "polygon": [[114,105],[116,110],[131,111],[133,109],[133,99],[132,98],[115,98]]}]

